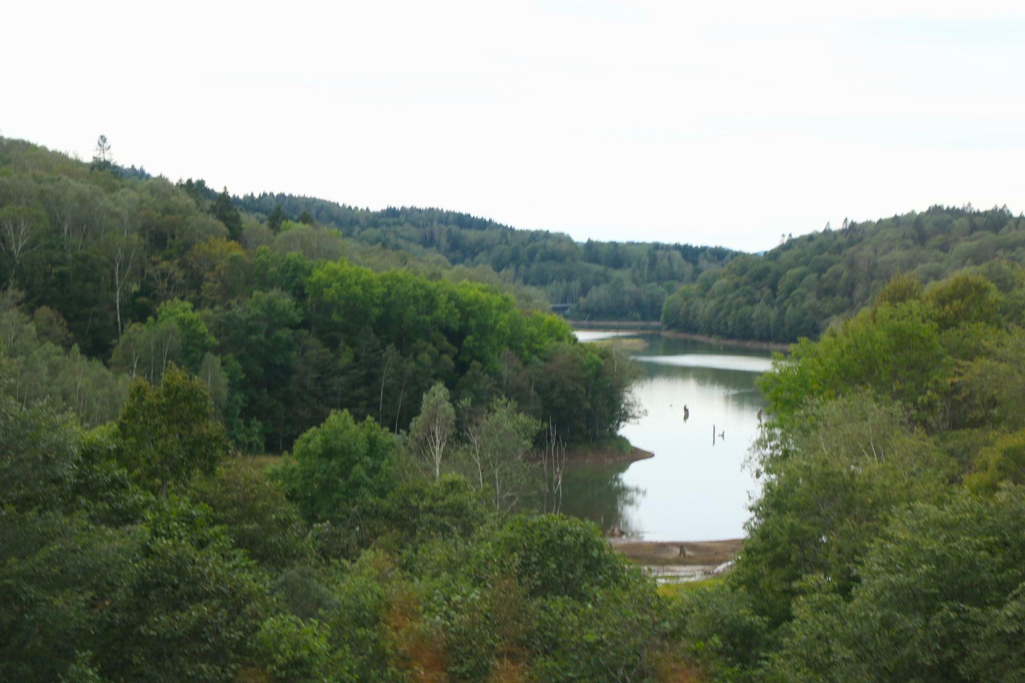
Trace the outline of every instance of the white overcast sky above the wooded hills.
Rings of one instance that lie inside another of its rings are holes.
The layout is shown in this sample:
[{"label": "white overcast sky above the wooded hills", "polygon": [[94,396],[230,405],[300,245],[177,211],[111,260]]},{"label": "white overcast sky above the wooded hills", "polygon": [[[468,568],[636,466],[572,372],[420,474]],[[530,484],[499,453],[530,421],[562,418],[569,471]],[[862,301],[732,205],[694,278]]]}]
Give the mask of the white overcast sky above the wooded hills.
[{"label": "white overcast sky above the wooded hills", "polygon": [[756,250],[1025,209],[1022,2],[8,2],[0,134],[236,194]]}]

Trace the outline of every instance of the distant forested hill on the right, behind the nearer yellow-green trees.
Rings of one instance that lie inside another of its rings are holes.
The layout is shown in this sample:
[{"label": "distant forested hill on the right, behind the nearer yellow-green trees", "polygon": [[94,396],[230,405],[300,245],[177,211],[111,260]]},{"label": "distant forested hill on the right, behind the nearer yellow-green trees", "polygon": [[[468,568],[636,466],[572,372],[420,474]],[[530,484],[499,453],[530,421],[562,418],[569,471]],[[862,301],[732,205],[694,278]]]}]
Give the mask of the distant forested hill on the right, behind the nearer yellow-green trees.
[{"label": "distant forested hill on the right, behind the nearer yellow-green trees", "polygon": [[670,296],[669,329],[737,339],[795,342],[870,304],[896,274],[922,283],[994,258],[1025,262],[1025,218],[1002,208],[934,206],[848,223],[742,255]]}]

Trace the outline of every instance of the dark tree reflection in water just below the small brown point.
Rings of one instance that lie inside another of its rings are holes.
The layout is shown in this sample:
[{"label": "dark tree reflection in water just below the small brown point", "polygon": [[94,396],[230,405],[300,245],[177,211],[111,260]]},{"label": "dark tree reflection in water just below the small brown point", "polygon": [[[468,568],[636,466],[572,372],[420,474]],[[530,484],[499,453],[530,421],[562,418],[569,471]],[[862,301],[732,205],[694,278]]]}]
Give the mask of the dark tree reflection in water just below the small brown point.
[{"label": "dark tree reflection in water just below the small brown point", "polygon": [[644,489],[623,482],[625,465],[571,464],[563,485],[563,512],[589,519],[608,532],[613,526],[627,534],[643,531],[634,528],[630,509],[644,495]]}]

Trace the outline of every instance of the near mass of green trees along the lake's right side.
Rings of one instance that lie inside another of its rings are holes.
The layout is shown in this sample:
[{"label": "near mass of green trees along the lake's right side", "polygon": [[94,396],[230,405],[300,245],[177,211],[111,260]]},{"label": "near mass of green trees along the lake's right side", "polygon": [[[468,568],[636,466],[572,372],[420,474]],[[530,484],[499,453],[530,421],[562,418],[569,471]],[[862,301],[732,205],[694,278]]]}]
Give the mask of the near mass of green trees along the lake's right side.
[{"label": "near mass of green trees along the lake's right side", "polygon": [[1025,269],[996,260],[896,276],[777,357],[743,552],[681,605],[709,674],[1025,675],[1023,323]]}]

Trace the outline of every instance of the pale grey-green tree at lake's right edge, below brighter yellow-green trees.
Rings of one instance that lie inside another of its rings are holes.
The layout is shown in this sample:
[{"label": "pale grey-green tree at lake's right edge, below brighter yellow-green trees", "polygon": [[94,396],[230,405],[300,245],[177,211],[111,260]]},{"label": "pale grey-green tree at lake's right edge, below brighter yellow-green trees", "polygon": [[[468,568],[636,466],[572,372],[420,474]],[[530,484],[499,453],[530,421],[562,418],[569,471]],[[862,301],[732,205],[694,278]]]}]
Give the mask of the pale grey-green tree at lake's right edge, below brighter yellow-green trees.
[{"label": "pale grey-green tree at lake's right edge, below brighter yellow-green trees", "polygon": [[785,441],[769,432],[760,444],[764,488],[732,577],[774,626],[788,616],[803,576],[827,576],[847,595],[856,582],[854,561],[890,512],[935,499],[954,472],[897,406],[868,395],[812,404],[794,424],[802,427]]}]

